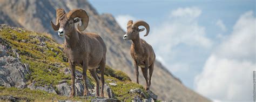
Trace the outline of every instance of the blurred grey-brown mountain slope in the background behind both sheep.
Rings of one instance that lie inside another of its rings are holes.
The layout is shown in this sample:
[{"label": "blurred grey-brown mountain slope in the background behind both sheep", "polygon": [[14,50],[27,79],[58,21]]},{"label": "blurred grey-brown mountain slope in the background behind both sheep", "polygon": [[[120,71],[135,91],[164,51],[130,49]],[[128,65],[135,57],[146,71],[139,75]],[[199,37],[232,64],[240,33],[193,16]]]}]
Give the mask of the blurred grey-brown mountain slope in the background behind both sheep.
[{"label": "blurred grey-brown mountain slope in the background behind both sheep", "polygon": [[[55,22],[57,8],[63,8],[65,11],[75,8],[85,9],[90,16],[89,26],[85,31],[96,32],[104,39],[107,45],[107,65],[127,73],[134,81],[134,69],[130,56],[131,42],[125,42],[122,39],[125,32],[112,15],[99,15],[87,1],[0,0],[0,23],[48,32],[58,39],[58,42],[62,42],[49,23],[49,21]],[[142,74],[139,79],[140,84],[144,85]],[[152,76],[151,90],[158,94],[160,100],[210,101],[185,87],[158,61]]]}]

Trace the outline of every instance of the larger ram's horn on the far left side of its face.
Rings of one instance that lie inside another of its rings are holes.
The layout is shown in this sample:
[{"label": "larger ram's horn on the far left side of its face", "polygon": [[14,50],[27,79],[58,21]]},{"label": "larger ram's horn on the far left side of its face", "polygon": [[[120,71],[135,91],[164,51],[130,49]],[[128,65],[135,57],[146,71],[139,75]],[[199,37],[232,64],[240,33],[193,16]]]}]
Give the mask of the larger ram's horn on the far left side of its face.
[{"label": "larger ram's horn on the far left side of its face", "polygon": [[59,30],[59,19],[60,17],[63,17],[65,15],[65,11],[64,9],[57,9],[56,10],[56,25],[52,23],[51,21],[51,26],[52,26],[52,29],[57,31]]}]

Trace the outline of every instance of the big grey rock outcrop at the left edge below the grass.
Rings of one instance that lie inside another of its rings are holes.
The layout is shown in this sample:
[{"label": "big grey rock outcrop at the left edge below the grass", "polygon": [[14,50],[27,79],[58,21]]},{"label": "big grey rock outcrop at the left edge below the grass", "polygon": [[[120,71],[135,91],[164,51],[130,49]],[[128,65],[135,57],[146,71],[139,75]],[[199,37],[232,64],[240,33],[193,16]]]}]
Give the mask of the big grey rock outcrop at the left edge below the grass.
[{"label": "big grey rock outcrop at the left edge below the grass", "polygon": [[[0,49],[3,47],[1,45]],[[6,56],[6,50],[1,49],[1,51],[0,86],[25,88],[25,76],[30,73],[28,66],[22,64],[18,58]]]}]

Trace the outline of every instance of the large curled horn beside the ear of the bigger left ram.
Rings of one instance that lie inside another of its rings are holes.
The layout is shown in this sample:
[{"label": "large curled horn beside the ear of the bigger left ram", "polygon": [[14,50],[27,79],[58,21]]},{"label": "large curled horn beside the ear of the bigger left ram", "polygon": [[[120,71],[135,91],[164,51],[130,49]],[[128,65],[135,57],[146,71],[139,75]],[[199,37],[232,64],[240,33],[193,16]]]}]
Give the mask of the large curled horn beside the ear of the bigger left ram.
[{"label": "large curled horn beside the ear of the bigger left ram", "polygon": [[81,18],[82,25],[77,25],[79,31],[84,31],[89,23],[89,16],[87,15],[86,11],[83,9],[73,9],[69,11],[67,15],[68,19],[74,19],[76,17]]}]

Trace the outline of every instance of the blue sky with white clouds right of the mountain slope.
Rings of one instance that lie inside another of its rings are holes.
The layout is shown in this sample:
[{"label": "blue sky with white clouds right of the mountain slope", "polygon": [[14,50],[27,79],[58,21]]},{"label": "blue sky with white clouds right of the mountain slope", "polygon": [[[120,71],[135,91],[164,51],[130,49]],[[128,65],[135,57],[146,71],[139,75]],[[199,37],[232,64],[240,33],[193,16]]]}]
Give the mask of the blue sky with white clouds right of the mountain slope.
[{"label": "blue sky with white clouds right of the mountain slope", "polygon": [[[124,29],[129,19],[149,23],[149,36],[140,37],[190,89],[214,101],[252,100],[252,77],[245,74],[256,69],[255,1],[90,3],[99,13],[112,13]],[[229,80],[237,76],[245,77]]]}]

